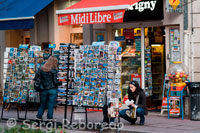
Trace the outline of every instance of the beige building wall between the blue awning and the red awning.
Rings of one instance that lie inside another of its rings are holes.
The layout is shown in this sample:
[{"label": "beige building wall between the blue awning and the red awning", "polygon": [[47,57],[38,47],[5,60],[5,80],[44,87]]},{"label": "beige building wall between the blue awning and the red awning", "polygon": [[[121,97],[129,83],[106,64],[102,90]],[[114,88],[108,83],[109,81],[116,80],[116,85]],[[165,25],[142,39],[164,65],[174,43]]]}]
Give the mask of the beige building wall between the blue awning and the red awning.
[{"label": "beige building wall between the blue awning and the red awning", "polygon": [[31,45],[49,42],[57,44],[70,43],[70,33],[82,33],[82,28],[72,28],[71,25],[58,26],[56,10],[63,10],[80,0],[54,0],[35,16],[34,29],[30,30]]}]

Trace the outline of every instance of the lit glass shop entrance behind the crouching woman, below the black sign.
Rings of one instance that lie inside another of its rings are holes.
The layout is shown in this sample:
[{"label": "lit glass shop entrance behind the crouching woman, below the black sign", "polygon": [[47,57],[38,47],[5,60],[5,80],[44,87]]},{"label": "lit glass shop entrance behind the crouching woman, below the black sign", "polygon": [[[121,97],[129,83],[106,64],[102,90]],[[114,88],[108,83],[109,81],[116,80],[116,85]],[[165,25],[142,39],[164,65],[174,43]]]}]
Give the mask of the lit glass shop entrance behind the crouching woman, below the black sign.
[{"label": "lit glass shop entrance behind the crouching woman, below the black sign", "polygon": [[[160,109],[166,71],[165,27],[144,28],[144,58],[141,54],[141,28],[117,29],[115,40],[120,41],[122,47],[122,99],[127,98],[129,82],[137,80],[141,87],[144,86],[148,110]],[[142,61],[144,61],[144,82],[141,72]]]}]

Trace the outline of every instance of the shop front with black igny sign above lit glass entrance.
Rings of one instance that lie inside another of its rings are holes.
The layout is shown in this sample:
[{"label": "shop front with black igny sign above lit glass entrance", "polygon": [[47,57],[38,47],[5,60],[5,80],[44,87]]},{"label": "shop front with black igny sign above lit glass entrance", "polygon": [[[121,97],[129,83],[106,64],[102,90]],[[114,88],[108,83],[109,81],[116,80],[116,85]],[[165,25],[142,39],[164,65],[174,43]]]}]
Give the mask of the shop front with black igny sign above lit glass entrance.
[{"label": "shop front with black igny sign above lit glass entrance", "polygon": [[[155,5],[138,7],[149,3]],[[133,8],[126,11],[123,24],[113,25],[115,39],[124,37],[121,41],[122,97],[127,94],[129,82],[137,80],[149,96],[148,108],[155,109],[161,104],[165,73],[163,1],[140,1]]]}]

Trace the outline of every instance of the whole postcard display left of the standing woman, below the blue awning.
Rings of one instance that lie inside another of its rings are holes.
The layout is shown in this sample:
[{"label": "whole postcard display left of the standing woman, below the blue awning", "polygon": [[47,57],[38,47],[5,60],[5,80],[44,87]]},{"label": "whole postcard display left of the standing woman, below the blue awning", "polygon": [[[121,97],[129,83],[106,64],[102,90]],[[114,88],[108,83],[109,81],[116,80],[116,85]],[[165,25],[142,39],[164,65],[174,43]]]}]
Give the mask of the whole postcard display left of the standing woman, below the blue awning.
[{"label": "whole postcard display left of the standing woman, below the blue awning", "polygon": [[[41,49],[41,48],[40,48]],[[33,47],[32,47],[33,50]],[[37,55],[37,60],[36,57]],[[41,52],[28,50],[28,45],[19,48],[6,48],[4,53],[4,92],[1,120],[4,110],[11,106],[17,107],[18,120],[26,119],[27,106],[30,102],[39,103],[39,94],[35,92],[32,79],[36,69],[41,65]],[[19,108],[25,107],[25,117],[19,116]]]}]

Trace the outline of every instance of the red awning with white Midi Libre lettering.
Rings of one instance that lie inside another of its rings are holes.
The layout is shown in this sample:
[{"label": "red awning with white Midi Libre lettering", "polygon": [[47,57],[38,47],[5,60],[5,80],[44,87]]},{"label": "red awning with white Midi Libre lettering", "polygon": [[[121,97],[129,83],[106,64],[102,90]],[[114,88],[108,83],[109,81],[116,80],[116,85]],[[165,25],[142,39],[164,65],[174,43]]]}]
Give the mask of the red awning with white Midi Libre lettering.
[{"label": "red awning with white Midi Libre lettering", "polygon": [[59,25],[121,23],[125,10],[140,0],[81,0],[57,10]]}]

